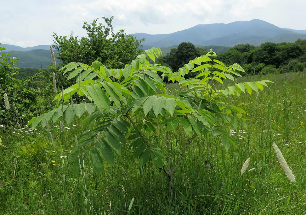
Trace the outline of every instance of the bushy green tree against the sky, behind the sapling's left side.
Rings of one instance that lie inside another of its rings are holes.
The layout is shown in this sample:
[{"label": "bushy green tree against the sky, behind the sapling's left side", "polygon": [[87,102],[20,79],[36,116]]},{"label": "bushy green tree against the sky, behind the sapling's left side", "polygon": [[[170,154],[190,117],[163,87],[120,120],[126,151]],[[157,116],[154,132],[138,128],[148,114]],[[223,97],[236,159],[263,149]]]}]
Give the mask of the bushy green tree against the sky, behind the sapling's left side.
[{"label": "bushy green tree against the sky, behind the sapling's left side", "polygon": [[67,36],[58,36],[54,33],[54,45],[58,52],[58,58],[63,64],[69,62],[83,62],[91,64],[93,61],[101,61],[108,68],[122,68],[125,64],[140,54],[140,43],[124,30],[114,33],[112,19],[102,17],[105,24],[97,23],[98,18],[92,23],[84,22],[83,29],[87,31],[87,37],[78,39],[73,32]]}]

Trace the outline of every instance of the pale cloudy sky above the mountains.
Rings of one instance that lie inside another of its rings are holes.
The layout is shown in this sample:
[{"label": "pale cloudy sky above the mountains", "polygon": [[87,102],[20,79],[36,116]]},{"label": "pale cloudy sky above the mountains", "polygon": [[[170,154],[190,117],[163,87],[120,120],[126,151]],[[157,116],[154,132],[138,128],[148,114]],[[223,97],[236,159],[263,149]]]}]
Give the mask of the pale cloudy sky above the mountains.
[{"label": "pale cloudy sky above the mountains", "polygon": [[306,30],[306,0],[0,0],[0,42],[52,44],[53,32],[84,36],[83,21],[114,16],[115,30],[164,34],[197,24],[262,19]]}]

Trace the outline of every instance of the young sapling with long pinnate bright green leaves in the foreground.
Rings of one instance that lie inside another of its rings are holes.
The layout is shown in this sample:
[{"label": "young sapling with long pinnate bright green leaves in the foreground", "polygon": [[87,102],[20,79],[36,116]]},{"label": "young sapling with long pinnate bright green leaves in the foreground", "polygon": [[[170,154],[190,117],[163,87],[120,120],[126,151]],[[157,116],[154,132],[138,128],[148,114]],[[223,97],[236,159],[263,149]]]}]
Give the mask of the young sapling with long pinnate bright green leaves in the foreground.
[{"label": "young sapling with long pinnate bright green leaves in the foreground", "polygon": [[[180,47],[185,45],[190,46],[182,44]],[[178,50],[182,51],[181,48]],[[183,52],[181,54],[183,55]],[[211,50],[173,72],[168,67],[151,63],[160,56],[161,50],[158,48],[146,50],[122,69],[107,69],[99,61],[94,61],[91,66],[74,62],[67,64],[59,71],[64,75],[69,73],[67,80],[76,77],[76,84],[56,95],[54,101],[68,103],[71,97],[77,94],[79,97],[86,97],[90,102],[61,104],[57,109],[32,118],[28,125],[35,128],[41,123],[44,127],[45,120],[52,119],[55,123],[63,120],[64,116],[68,125],[75,116],[83,118],[83,125],[95,120],[95,128],[78,136],[78,144],[68,161],[79,162],[77,158],[81,159],[83,153],[90,151],[89,160],[98,175],[102,171],[102,158],[114,165],[114,157],[122,155],[122,151],[125,151],[122,147],[127,141],[130,142],[133,158],[139,158],[141,166],[152,161],[165,171],[170,180],[196,136],[199,139],[202,135],[221,138],[228,150],[234,141],[228,132],[222,129],[222,125],[230,123],[237,128],[238,122],[241,122],[246,126],[246,112],[240,107],[222,102],[221,99],[239,96],[246,91],[249,94],[252,91],[258,93],[271,81],[242,82],[219,90],[217,86],[222,86],[223,80],[234,81],[234,76],[241,77],[239,72],[245,72],[243,68],[238,64],[225,66],[214,59],[217,55]],[[169,94],[167,84],[164,84],[157,72],[169,82],[178,82],[186,91]],[[198,75],[185,79],[185,75],[190,73]],[[87,116],[84,114],[85,110]],[[180,143],[180,158],[171,166],[170,163],[174,161],[169,160],[169,148],[172,144],[168,133],[181,126],[190,139],[185,148],[184,144]],[[166,141],[158,137],[156,127],[166,130]],[[165,148],[168,149],[167,161],[167,156],[162,153]],[[167,162],[168,167],[165,167]],[[81,171],[78,164],[75,166],[75,173]]]}]

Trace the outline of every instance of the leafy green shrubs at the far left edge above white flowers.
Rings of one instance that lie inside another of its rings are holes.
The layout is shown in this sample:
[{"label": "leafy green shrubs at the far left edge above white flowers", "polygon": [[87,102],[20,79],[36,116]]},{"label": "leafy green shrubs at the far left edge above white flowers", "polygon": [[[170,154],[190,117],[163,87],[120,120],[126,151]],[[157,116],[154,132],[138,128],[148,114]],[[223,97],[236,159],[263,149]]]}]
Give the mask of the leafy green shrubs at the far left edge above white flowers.
[{"label": "leafy green shrubs at the far left edge above white flowers", "polygon": [[[5,48],[0,47],[0,50]],[[42,77],[40,74],[29,78],[18,80],[18,67],[15,63],[18,59],[10,57],[10,53],[1,53],[0,56],[0,123],[7,125],[9,122],[26,123],[29,118],[41,113],[45,108],[49,109],[52,105],[48,102],[52,91],[50,84],[36,82],[36,78]],[[44,76],[45,77],[45,76]],[[42,88],[44,87],[44,90]],[[10,109],[5,108],[4,94],[7,94]],[[41,99],[43,96],[45,99]],[[14,107],[15,106],[15,107]],[[39,108],[38,108],[39,107]],[[28,118],[29,117],[29,118]]]}]

